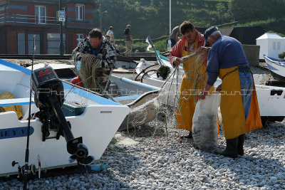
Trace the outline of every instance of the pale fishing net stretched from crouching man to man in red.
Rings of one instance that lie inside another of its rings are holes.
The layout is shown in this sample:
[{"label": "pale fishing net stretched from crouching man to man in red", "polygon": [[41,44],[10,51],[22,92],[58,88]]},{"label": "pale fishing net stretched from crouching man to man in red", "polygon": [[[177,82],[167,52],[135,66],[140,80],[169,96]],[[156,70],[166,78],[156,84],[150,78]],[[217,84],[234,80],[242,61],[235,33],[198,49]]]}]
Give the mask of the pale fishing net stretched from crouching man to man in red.
[{"label": "pale fishing net stretched from crouching man to man in red", "polygon": [[[124,126],[121,125],[121,130],[133,130],[129,134],[136,135],[138,130],[146,125],[152,126],[152,132],[148,137],[155,137],[157,130],[163,131],[164,136],[167,137],[168,132],[175,131],[177,126],[177,106],[183,106],[179,104],[182,99],[189,99],[195,97],[195,103],[197,102],[196,90],[203,89],[207,78],[204,78],[205,70],[202,70],[202,64],[204,63],[203,56],[200,53],[193,53],[190,56],[182,58],[184,65],[191,65],[192,69],[183,70],[181,67],[176,67],[172,72],[169,70],[163,70],[164,73],[169,73],[165,80],[161,80],[161,83],[157,87],[162,87],[160,93],[148,95],[144,100],[140,100],[140,104],[132,104],[131,101],[120,102],[123,105],[128,105],[131,108]],[[82,58],[82,68],[79,75],[83,80],[84,87],[88,89],[98,89],[97,83],[93,76],[96,74],[96,69],[100,65],[100,60],[95,56],[86,55]],[[86,69],[90,68],[90,69]],[[160,67],[157,67],[157,69]],[[151,68],[152,69],[152,68]],[[156,70],[157,72],[157,70]],[[145,73],[141,73],[144,75]],[[151,74],[151,73],[149,73]],[[190,88],[190,94],[185,97],[180,96],[180,83],[182,78],[185,77],[192,81],[192,88]],[[144,83],[145,79],[142,79]],[[110,94],[110,97],[112,95]],[[182,115],[183,120],[188,115]],[[154,119],[154,120],[153,120]],[[191,118],[192,120],[192,118]],[[163,129],[163,130],[161,130]]]}]

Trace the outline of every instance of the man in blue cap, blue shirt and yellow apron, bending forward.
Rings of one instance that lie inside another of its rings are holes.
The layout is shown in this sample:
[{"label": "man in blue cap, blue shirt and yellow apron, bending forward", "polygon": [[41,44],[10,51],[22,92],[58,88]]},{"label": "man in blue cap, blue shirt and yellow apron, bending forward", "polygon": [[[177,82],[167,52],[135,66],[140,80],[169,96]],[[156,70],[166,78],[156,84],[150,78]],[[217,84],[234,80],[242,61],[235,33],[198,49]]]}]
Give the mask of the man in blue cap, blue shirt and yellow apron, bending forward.
[{"label": "man in blue cap, blue shirt and yellow apron, bending forward", "polygon": [[199,94],[204,100],[217,77],[222,79],[217,91],[221,93],[221,113],[227,147],[219,154],[236,158],[244,154],[245,133],[262,127],[257,93],[242,44],[235,38],[222,36],[216,26],[204,33],[208,53],[207,85]]}]

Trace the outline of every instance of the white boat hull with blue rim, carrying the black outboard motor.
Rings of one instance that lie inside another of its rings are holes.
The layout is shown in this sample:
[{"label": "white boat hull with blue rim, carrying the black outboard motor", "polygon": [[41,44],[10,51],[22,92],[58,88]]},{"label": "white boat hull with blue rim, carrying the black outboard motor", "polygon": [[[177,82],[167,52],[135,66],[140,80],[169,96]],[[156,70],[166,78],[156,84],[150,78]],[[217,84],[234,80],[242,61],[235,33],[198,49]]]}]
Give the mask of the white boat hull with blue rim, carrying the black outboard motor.
[{"label": "white boat hull with blue rim, carrying the black outboard motor", "polygon": [[[21,68],[18,65],[0,60],[0,93],[11,92],[15,95],[13,100],[0,100],[0,106],[21,105],[24,115],[18,120],[15,112],[0,112],[0,176],[16,174],[17,167],[12,167],[13,161],[24,165],[26,150],[25,130],[28,126],[28,102],[24,101],[29,97],[31,70]],[[63,83],[65,90],[65,102],[76,101],[86,105],[80,115],[67,116],[66,120],[71,122],[71,132],[74,137],[83,137],[83,144],[88,147],[89,155],[100,159],[120,124],[130,112],[130,108],[120,105],[117,102],[107,100],[85,90],[73,88]],[[23,100],[22,102],[16,100]],[[32,97],[33,100],[33,97]],[[32,105],[31,113],[38,112],[36,105]],[[51,138],[42,141],[41,122],[31,120],[31,136],[29,145],[29,162],[38,168],[38,156],[41,159],[42,169],[66,167],[76,164],[69,163],[64,137],[59,139]],[[24,128],[19,128],[24,127]],[[48,137],[55,137],[56,132],[51,131]]]}]

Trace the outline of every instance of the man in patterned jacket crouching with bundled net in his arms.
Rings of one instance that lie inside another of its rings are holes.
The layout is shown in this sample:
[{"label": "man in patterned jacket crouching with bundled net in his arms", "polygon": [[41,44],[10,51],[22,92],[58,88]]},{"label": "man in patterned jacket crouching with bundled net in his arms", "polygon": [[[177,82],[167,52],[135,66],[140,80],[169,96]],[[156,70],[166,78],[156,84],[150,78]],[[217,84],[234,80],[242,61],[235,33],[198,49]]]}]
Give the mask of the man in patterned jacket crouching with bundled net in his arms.
[{"label": "man in patterned jacket crouching with bundled net in his arms", "polygon": [[[71,83],[79,83],[84,88],[102,93],[108,87],[107,81],[115,68],[115,48],[110,44],[100,29],[93,28],[72,52],[77,78]],[[82,81],[82,83],[80,83]]]}]

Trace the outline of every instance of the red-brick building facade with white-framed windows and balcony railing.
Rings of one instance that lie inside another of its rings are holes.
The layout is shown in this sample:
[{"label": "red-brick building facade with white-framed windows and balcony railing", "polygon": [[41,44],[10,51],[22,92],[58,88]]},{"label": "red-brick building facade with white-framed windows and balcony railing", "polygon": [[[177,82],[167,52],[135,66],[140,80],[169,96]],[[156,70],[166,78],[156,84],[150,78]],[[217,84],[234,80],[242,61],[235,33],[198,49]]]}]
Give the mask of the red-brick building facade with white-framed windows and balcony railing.
[{"label": "red-brick building facade with white-framed windows and balcony railing", "polygon": [[[57,21],[58,0],[0,0],[0,54],[58,54],[60,23]],[[71,53],[79,41],[95,28],[93,0],[61,0],[66,11],[63,22],[64,53]]]}]

